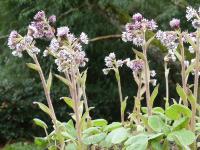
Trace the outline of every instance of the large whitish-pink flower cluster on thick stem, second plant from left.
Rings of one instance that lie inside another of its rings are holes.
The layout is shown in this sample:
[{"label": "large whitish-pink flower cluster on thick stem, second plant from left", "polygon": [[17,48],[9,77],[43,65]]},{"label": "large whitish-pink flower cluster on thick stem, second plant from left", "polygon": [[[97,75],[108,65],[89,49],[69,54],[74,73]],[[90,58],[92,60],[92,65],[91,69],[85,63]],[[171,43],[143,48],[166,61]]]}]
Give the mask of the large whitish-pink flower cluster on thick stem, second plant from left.
[{"label": "large whitish-pink flower cluster on thick stem, second plant from left", "polygon": [[86,54],[82,49],[82,44],[88,44],[88,37],[85,33],[82,32],[80,37],[76,38],[67,26],[59,27],[57,28],[56,37],[51,40],[43,55],[51,54],[56,57],[55,63],[61,72],[75,65],[84,67],[88,62],[88,58],[86,58]]}]

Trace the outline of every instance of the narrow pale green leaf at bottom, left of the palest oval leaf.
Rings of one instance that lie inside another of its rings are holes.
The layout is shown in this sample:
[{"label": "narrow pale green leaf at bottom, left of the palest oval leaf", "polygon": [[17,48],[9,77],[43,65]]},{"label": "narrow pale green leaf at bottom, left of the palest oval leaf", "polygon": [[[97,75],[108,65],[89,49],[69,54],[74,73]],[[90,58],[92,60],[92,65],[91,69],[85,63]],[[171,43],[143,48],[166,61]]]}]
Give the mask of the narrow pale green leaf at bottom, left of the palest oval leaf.
[{"label": "narrow pale green leaf at bottom, left of the palest oval leaf", "polygon": [[105,133],[94,134],[88,137],[84,137],[83,143],[86,145],[97,144],[101,142],[103,139],[105,139],[105,137],[106,137]]}]

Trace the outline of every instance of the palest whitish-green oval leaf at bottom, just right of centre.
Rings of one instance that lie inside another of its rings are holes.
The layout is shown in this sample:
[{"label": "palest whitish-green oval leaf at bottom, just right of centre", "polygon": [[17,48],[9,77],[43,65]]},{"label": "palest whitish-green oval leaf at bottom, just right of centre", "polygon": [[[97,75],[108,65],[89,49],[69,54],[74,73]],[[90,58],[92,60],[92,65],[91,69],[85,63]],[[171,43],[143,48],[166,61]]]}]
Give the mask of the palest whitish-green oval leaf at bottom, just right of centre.
[{"label": "palest whitish-green oval leaf at bottom, just right of centre", "polygon": [[111,131],[107,135],[105,140],[107,142],[111,142],[112,144],[119,144],[125,141],[127,137],[128,137],[128,130],[124,127],[121,127]]}]

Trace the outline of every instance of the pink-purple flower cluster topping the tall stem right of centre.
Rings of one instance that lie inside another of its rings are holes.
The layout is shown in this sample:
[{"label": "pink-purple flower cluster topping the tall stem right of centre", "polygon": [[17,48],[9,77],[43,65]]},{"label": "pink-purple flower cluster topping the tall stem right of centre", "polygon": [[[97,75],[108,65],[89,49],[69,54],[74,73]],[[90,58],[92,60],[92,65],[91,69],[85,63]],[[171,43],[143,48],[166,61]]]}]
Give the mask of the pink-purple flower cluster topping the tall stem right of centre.
[{"label": "pink-purple flower cluster topping the tall stem right of centre", "polygon": [[157,24],[154,20],[144,18],[140,13],[132,16],[132,22],[127,23],[125,31],[122,32],[122,40],[124,42],[133,42],[136,46],[141,46],[144,42],[144,32],[146,30],[156,30]]}]

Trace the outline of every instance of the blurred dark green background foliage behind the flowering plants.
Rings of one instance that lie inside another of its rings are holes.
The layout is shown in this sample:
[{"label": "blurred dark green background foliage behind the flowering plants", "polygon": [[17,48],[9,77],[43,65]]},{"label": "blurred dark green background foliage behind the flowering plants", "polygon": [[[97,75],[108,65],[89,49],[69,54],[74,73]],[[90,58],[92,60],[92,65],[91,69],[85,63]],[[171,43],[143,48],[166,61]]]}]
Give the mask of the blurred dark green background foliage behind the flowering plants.
[{"label": "blurred dark green background foliage behind the flowering plants", "polygon": [[[124,24],[130,20],[133,13],[141,12],[147,18],[153,18],[162,30],[168,30],[171,18],[181,19],[182,29],[188,28],[185,19],[185,7],[199,6],[200,0],[2,0],[0,1],[0,143],[13,139],[32,139],[41,135],[36,132],[32,119],[46,116],[32,102],[45,102],[45,97],[37,74],[27,69],[25,62],[31,60],[15,58],[7,47],[7,36],[15,29],[20,33],[26,32],[28,23],[38,10],[44,10],[48,15],[57,16],[56,26],[67,25],[71,30],[80,34],[86,32],[89,37],[95,38],[103,35],[121,34]],[[46,45],[41,45],[45,48]],[[93,118],[102,117],[110,121],[119,120],[119,103],[117,85],[113,75],[104,76],[104,57],[115,51],[118,58],[133,58],[132,45],[124,43],[120,38],[93,41],[85,47],[90,59],[88,63],[87,95],[89,105],[96,109],[92,112]],[[157,72],[158,82],[161,84],[156,104],[164,104],[164,72],[163,56],[165,49],[159,42],[154,42],[149,49],[151,68]],[[189,55],[188,55],[189,58]],[[41,63],[46,75],[49,69],[57,72],[51,59],[44,59]],[[179,81],[179,64],[171,64],[170,89],[175,88]],[[122,87],[124,95],[129,96],[128,110],[133,106],[135,83],[127,68],[121,70]],[[192,79],[191,79],[192,80]],[[66,88],[53,80],[52,97],[59,120],[69,117],[69,109],[59,100],[66,96]],[[176,98],[176,94],[170,93]]]}]

